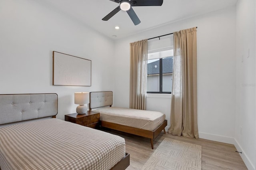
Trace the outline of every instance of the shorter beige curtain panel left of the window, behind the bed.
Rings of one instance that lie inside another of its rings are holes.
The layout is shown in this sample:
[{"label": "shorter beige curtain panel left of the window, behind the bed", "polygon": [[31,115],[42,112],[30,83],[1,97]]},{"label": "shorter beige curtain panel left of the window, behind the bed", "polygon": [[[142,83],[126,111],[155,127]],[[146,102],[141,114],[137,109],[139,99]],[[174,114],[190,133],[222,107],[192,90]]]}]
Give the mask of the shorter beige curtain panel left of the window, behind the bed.
[{"label": "shorter beige curtain panel left of the window, behind the bed", "polygon": [[130,43],[130,108],[146,110],[148,40]]}]

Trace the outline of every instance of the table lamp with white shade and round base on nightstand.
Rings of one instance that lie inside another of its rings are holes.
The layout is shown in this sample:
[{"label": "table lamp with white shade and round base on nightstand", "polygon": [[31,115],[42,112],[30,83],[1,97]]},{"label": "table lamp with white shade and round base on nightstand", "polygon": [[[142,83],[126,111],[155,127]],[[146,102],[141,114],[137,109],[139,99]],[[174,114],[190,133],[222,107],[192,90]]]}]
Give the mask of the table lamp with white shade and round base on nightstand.
[{"label": "table lamp with white shade and round base on nightstand", "polygon": [[79,106],[76,107],[76,113],[85,114],[87,112],[87,104],[90,103],[90,93],[88,92],[78,92],[75,93],[75,104]]}]

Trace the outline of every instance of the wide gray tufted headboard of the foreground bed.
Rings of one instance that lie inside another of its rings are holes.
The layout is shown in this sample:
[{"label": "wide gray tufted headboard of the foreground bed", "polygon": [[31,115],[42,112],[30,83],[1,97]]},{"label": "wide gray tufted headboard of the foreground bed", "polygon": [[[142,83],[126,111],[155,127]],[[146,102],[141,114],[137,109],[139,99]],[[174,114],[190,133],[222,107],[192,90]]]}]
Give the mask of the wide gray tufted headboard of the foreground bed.
[{"label": "wide gray tufted headboard of the foreground bed", "polygon": [[55,116],[56,93],[0,95],[0,125]]}]

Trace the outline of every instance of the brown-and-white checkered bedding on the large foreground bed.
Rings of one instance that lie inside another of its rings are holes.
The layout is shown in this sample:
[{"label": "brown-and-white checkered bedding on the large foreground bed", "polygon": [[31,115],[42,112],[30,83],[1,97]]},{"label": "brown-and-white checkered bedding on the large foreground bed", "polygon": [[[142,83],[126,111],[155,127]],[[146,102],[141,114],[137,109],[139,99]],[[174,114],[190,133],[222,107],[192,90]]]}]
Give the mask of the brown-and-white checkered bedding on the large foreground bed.
[{"label": "brown-and-white checkered bedding on the large foreground bed", "polygon": [[124,138],[59,119],[0,128],[2,170],[108,170],[124,156]]}]

